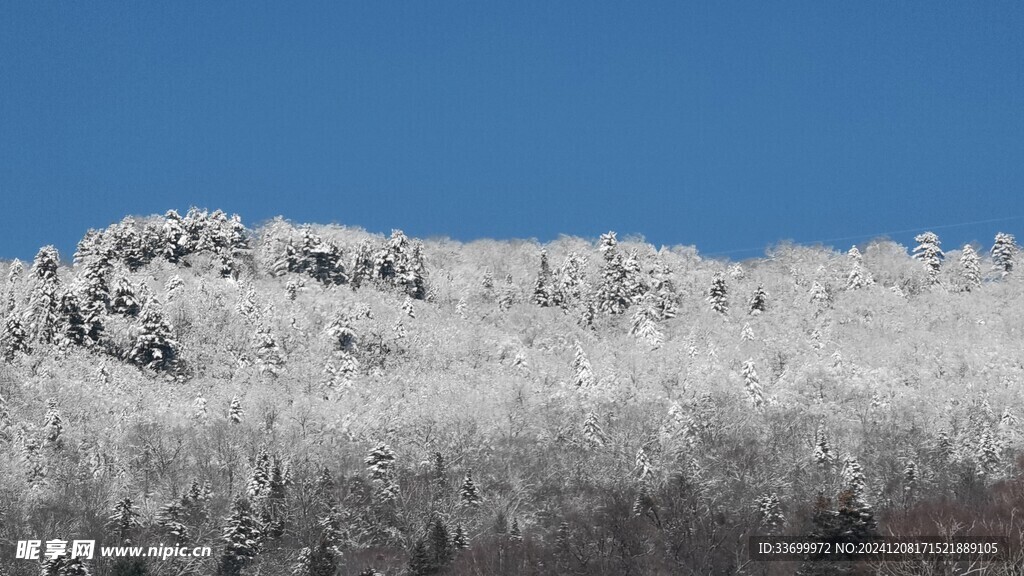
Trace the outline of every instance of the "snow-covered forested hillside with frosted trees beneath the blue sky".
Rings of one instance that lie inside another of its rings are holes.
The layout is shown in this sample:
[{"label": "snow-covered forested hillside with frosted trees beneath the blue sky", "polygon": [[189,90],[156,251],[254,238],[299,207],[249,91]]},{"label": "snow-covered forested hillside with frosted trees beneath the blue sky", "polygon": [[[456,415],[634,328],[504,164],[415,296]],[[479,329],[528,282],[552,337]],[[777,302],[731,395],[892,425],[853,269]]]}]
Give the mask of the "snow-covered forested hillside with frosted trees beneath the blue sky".
[{"label": "snow-covered forested hillside with frosted trees beneath the blue sky", "polygon": [[0,574],[1020,574],[1024,281],[991,234],[734,262],[197,208],[88,231],[0,279]]}]

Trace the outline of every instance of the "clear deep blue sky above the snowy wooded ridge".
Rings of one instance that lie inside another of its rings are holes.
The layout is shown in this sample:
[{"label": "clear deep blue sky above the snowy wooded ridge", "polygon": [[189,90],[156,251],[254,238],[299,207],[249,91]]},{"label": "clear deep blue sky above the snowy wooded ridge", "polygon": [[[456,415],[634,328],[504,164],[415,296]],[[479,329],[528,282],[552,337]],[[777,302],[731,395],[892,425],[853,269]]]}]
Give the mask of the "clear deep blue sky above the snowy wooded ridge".
[{"label": "clear deep blue sky above the snowy wooded ridge", "polygon": [[1022,31],[996,1],[3,2],[0,257],[193,204],[736,257],[1013,218],[937,230],[987,246],[1024,236]]}]

